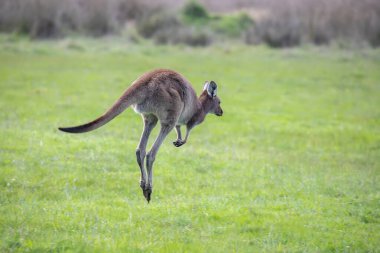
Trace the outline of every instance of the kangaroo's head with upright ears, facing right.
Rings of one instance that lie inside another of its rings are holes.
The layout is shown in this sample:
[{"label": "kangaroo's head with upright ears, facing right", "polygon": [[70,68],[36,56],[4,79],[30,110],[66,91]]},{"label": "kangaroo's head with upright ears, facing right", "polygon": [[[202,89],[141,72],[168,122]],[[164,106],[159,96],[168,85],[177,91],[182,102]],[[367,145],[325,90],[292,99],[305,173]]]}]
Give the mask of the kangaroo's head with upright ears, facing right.
[{"label": "kangaroo's head with upright ears, facing right", "polygon": [[214,81],[206,82],[201,95],[203,108],[206,113],[212,113],[217,116],[223,115],[222,107],[220,107],[220,99],[216,95],[217,85]]}]

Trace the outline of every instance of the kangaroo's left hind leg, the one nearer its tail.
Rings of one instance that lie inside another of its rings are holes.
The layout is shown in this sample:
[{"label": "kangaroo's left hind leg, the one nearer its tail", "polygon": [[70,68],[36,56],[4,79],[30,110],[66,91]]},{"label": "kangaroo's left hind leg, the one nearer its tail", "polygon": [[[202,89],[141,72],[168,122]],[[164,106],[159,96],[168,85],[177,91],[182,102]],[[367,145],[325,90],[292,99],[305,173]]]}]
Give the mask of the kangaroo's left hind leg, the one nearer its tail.
[{"label": "kangaroo's left hind leg, the one nearer its tail", "polygon": [[144,121],[144,130],[141,134],[140,143],[136,149],[136,158],[141,170],[140,187],[144,191],[147,182],[146,171],[144,168],[146,145],[148,143],[149,135],[156,126],[158,119],[153,114],[143,114],[142,117]]}]

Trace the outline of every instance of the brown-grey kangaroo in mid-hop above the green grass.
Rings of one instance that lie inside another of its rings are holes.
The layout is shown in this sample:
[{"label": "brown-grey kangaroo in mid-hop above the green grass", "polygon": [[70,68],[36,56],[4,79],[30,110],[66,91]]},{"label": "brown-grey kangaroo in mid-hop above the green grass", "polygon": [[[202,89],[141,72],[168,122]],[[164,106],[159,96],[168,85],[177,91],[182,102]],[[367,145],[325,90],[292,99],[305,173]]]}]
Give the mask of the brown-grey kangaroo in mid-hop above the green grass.
[{"label": "brown-grey kangaroo in mid-hop above the green grass", "polygon": [[[172,70],[159,69],[148,72],[138,78],[115,102],[115,104],[99,118],[80,126],[60,127],[68,133],[84,133],[97,129],[127,107],[132,106],[142,115],[144,130],[136,150],[137,163],[141,170],[140,187],[149,202],[153,186],[153,163],[160,145],[168,133],[175,127],[177,140],[174,146],[179,147],[187,142],[190,130],[200,124],[206,114],[222,116],[220,99],[216,96],[217,86],[214,81],[206,82],[199,98],[191,84],[179,73]],[[146,153],[146,145],[152,129],[160,121],[161,130],[152,148]],[[182,139],[181,125],[186,125],[186,136]],[[144,159],[146,158],[146,169]]]}]

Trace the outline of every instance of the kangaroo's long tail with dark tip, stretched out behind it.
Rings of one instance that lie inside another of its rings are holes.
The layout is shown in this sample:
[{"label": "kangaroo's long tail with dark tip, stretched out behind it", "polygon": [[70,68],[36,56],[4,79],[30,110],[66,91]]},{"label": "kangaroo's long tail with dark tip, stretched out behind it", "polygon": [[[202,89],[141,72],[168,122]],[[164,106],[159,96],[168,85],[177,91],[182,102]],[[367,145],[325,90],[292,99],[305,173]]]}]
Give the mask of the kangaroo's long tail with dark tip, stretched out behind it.
[{"label": "kangaroo's long tail with dark tip, stretched out behind it", "polygon": [[117,100],[115,104],[99,118],[83,125],[74,126],[74,127],[59,127],[58,129],[67,133],[85,133],[85,132],[95,130],[107,124],[117,115],[122,113],[127,107],[137,102],[136,101],[137,96],[134,96],[133,94],[131,94],[131,93],[134,93],[132,91],[133,89],[128,89],[119,98],[119,100]]}]

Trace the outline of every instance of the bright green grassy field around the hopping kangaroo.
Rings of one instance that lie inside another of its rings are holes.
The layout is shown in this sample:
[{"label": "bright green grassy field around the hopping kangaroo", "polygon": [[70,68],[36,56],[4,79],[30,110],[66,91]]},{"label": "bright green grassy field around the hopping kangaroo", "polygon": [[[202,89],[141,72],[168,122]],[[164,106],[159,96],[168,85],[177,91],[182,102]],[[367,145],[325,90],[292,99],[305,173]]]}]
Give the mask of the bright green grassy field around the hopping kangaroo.
[{"label": "bright green grassy field around the hopping kangaroo", "polygon": [[[180,148],[169,135],[147,204],[133,110],[83,135],[57,127],[153,68],[198,94],[215,80],[225,114]],[[0,251],[379,252],[379,103],[379,50],[2,36]]]}]

